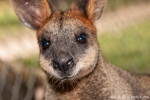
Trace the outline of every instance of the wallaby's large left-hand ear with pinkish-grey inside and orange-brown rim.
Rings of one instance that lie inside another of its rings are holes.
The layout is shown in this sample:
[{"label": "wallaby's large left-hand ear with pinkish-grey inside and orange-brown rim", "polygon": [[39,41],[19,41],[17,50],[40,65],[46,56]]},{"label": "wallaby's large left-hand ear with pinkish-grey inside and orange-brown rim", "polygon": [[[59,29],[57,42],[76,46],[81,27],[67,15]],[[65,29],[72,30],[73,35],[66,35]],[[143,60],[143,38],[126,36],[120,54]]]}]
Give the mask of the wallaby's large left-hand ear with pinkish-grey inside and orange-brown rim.
[{"label": "wallaby's large left-hand ear with pinkish-grey inside and orange-brown rim", "polygon": [[46,0],[10,1],[20,21],[34,30],[38,30],[52,14],[52,10]]}]

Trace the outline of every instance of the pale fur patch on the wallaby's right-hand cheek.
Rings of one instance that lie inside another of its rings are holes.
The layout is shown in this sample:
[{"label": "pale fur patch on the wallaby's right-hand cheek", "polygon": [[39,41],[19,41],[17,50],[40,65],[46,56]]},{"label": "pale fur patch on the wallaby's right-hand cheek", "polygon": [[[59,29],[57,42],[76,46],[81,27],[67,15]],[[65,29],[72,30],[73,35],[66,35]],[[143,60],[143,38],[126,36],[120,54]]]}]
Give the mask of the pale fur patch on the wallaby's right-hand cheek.
[{"label": "pale fur patch on the wallaby's right-hand cheek", "polygon": [[79,59],[79,62],[77,63],[76,69],[73,71],[72,76],[76,76],[80,71],[81,72],[79,77],[83,77],[92,72],[96,66],[97,58],[98,49],[93,47],[88,48],[84,57]]}]

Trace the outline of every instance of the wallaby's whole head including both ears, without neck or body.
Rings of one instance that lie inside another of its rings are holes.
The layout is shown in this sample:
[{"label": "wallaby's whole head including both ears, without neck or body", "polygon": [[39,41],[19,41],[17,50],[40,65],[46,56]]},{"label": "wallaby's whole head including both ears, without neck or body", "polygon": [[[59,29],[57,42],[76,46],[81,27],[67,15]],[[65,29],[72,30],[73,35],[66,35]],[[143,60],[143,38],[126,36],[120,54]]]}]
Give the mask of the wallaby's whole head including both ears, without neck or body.
[{"label": "wallaby's whole head including both ears, without neck or body", "polygon": [[99,46],[94,22],[106,0],[78,0],[66,12],[53,12],[46,0],[10,0],[20,19],[37,31],[41,68],[51,77],[72,80],[95,68]]}]

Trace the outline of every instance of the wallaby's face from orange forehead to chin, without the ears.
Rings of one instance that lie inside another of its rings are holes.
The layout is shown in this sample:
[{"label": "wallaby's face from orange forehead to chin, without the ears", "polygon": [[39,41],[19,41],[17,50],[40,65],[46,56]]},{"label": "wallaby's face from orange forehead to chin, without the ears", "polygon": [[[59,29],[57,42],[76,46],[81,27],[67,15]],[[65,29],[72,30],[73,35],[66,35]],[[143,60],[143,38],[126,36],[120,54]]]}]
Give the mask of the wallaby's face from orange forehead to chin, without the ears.
[{"label": "wallaby's face from orange forehead to chin, without the ears", "polygon": [[79,78],[95,67],[98,46],[88,19],[54,13],[38,33],[38,40],[41,67],[56,78]]}]

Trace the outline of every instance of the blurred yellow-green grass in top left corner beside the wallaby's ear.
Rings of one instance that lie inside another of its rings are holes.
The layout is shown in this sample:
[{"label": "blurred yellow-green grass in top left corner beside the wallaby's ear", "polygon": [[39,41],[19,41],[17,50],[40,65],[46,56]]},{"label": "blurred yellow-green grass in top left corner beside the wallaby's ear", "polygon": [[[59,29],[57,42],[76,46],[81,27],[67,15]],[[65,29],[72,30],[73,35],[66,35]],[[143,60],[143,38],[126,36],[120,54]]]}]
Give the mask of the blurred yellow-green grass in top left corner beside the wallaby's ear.
[{"label": "blurred yellow-green grass in top left corner beside the wallaby's ear", "polygon": [[10,2],[0,0],[0,40],[23,32],[24,27],[19,22]]}]

